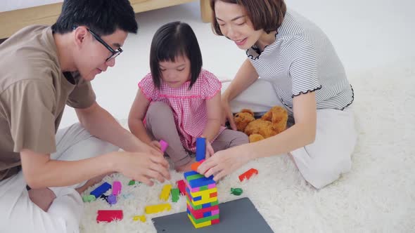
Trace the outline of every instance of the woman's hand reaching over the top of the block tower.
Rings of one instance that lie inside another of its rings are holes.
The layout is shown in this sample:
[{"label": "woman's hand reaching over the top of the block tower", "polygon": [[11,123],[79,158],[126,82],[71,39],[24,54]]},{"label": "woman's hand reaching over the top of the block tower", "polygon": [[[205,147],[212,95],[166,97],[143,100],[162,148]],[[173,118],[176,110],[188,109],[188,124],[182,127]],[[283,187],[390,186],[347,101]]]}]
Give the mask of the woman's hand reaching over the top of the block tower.
[{"label": "woman's hand reaching over the top of the block tower", "polygon": [[242,147],[232,147],[216,152],[200,164],[198,173],[205,175],[206,178],[213,175],[215,181],[224,178],[225,175],[229,175],[250,161],[249,154],[240,148]]}]

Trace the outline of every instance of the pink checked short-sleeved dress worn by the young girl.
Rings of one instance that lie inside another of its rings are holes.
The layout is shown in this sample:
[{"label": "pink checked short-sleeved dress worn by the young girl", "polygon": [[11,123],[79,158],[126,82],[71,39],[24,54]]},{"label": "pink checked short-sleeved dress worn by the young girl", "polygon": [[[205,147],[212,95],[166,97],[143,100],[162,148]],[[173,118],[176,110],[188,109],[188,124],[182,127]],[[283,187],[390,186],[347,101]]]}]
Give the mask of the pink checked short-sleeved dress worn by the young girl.
[{"label": "pink checked short-sleeved dress worn by the young girl", "polygon": [[[202,135],[208,122],[205,100],[221,91],[222,84],[214,74],[205,69],[202,69],[190,90],[189,84],[190,81],[187,81],[179,88],[171,88],[161,80],[160,89],[158,89],[154,86],[151,73],[149,73],[139,82],[139,88],[151,103],[161,101],[172,108],[182,145],[195,152],[196,138]],[[220,126],[218,135],[224,129],[224,126]]]}]

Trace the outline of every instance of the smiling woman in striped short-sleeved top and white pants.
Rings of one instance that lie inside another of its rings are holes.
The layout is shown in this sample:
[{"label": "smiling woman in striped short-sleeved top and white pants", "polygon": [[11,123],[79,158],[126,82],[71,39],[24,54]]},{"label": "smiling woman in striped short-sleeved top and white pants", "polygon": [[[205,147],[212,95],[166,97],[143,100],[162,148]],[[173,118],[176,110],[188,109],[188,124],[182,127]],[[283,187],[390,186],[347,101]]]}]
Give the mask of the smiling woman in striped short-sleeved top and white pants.
[{"label": "smiling woman in striped short-sleeved top and white pants", "polygon": [[231,105],[269,102],[268,108],[285,107],[293,126],[216,152],[198,171],[219,180],[252,159],[285,153],[318,189],[350,171],[357,138],[350,109],[354,95],[326,34],[287,10],[283,0],[211,0],[210,6],[215,34],[231,39],[248,55],[222,95],[222,124],[227,119],[236,128]]}]

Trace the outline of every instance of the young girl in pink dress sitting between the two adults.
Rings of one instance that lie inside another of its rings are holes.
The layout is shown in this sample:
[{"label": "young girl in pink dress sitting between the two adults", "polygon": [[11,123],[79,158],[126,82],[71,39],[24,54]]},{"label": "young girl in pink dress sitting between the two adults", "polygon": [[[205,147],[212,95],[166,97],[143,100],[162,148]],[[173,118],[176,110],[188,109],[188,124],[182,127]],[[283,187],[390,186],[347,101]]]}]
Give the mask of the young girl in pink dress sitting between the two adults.
[{"label": "young girl in pink dress sitting between the two adults", "polygon": [[206,157],[248,142],[244,133],[220,125],[222,84],[202,69],[198,40],[189,25],[170,22],[155,32],[150,67],[139,82],[129,129],[155,148],[160,148],[159,140],[168,142],[166,153],[177,171],[191,169],[196,138],[206,138]]}]

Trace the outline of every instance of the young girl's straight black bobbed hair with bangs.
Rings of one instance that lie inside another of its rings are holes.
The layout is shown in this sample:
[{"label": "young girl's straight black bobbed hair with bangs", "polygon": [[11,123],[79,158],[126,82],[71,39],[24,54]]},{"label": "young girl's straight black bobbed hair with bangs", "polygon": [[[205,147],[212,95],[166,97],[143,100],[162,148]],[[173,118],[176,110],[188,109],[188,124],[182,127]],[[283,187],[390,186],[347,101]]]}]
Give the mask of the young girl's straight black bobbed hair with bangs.
[{"label": "young girl's straight black bobbed hair with bangs", "polygon": [[157,88],[160,88],[161,83],[160,62],[174,62],[179,56],[186,56],[190,60],[190,89],[198,79],[203,65],[198,39],[185,22],[169,22],[155,32],[151,41],[150,69]]}]

